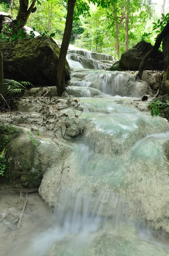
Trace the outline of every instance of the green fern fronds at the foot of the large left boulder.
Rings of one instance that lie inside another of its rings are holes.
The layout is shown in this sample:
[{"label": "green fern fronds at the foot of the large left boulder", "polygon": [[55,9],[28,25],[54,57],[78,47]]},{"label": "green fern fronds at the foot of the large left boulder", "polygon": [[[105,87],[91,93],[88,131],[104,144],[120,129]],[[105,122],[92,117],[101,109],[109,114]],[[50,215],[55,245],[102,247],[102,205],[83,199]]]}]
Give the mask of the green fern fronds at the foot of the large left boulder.
[{"label": "green fern fronds at the foot of the large left boulder", "polygon": [[27,90],[27,86],[33,86],[30,82],[14,81],[11,79],[4,79],[4,84],[8,85],[8,91],[11,93],[21,93],[22,90]]}]

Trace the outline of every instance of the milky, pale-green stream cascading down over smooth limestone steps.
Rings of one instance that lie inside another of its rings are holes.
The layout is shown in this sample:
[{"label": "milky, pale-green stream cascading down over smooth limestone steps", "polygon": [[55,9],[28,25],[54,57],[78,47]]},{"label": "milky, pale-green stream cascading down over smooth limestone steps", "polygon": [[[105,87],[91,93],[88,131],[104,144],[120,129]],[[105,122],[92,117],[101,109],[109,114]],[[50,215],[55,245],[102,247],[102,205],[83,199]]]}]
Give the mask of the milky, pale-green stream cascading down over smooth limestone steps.
[{"label": "milky, pale-green stream cascading down over smooth limestone steps", "polygon": [[[102,70],[84,69],[87,61],[98,67],[96,56],[110,64],[109,55],[70,50],[68,56],[76,69],[70,91],[81,103],[83,113],[76,115],[85,132],[70,142],[58,206],[53,212],[45,208],[46,217],[39,206],[40,224],[37,212],[30,212],[32,224],[25,222],[2,256],[169,255],[168,233],[155,226],[164,215],[161,205],[168,204],[168,122],[131,107],[137,98],[127,96],[134,97],[134,79],[104,71],[103,64]],[[129,80],[132,93],[125,89]]]}]

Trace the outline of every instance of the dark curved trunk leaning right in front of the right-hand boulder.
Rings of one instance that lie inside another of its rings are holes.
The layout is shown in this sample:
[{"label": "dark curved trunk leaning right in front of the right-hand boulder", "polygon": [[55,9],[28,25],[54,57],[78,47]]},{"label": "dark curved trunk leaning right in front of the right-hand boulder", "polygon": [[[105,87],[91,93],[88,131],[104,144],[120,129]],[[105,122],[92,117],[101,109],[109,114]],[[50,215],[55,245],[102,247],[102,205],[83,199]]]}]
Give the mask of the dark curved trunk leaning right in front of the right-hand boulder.
[{"label": "dark curved trunk leaning right in front of the right-hand boulder", "polygon": [[169,33],[169,23],[166,24],[166,26],[163,28],[161,33],[158,35],[154,47],[144,56],[144,58],[141,61],[141,64],[138,68],[138,76],[140,79],[142,78],[143,75],[143,70],[146,64],[146,61],[151,57],[152,54],[156,53],[161,45],[161,42],[163,38],[166,36],[166,34]]}]

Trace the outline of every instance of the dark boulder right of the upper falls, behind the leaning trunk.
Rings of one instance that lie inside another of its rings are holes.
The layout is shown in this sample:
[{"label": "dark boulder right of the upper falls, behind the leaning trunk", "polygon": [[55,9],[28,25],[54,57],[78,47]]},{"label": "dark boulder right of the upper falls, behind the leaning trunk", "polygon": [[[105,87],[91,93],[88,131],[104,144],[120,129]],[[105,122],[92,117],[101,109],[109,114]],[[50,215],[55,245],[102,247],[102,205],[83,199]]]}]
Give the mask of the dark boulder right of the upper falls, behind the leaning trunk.
[{"label": "dark boulder right of the upper falls, behind the leaning trunk", "polygon": [[[122,53],[120,61],[113,64],[110,70],[138,70],[144,56],[152,49],[152,45],[141,41],[132,49]],[[158,51],[148,59],[145,65],[146,70],[163,70],[163,52]]]}]

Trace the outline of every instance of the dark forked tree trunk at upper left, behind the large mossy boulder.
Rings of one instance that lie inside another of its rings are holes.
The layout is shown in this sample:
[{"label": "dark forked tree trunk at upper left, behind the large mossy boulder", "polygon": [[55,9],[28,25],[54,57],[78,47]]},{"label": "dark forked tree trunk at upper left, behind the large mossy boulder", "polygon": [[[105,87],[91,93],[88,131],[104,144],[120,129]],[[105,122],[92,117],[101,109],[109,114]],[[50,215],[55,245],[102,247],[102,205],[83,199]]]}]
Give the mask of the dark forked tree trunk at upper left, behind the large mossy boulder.
[{"label": "dark forked tree trunk at upper left, behind the large mossy boulder", "polygon": [[20,0],[20,8],[16,17],[17,22],[19,23],[20,30],[26,25],[29,15],[31,12],[36,11],[35,3],[37,0],[31,2],[31,6],[28,8],[29,0]]}]

